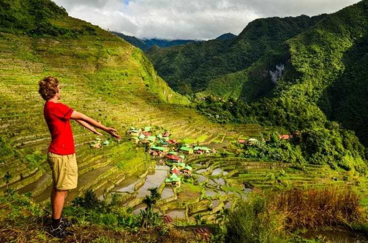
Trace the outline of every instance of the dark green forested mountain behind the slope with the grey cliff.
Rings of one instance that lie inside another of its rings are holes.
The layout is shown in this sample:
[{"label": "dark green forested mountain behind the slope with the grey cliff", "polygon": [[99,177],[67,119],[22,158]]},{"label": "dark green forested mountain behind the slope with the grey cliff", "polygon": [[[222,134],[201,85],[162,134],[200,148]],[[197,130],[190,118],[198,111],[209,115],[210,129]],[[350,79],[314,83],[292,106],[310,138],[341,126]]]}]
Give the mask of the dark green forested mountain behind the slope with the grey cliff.
[{"label": "dark green forested mountain behind the slope with the grey cliff", "polygon": [[325,16],[257,19],[232,39],[149,49],[145,54],[170,87],[181,94],[197,93],[208,87],[209,80],[244,70]]}]

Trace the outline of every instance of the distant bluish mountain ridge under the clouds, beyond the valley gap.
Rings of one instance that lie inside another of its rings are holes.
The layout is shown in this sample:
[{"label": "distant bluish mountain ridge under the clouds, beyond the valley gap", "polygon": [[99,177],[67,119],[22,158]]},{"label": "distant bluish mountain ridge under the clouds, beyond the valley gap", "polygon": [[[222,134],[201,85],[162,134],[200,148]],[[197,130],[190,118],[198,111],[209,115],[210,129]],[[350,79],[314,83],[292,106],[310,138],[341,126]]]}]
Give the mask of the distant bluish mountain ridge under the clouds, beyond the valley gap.
[{"label": "distant bluish mountain ridge under the clouds, beyond the valley gap", "polygon": [[123,38],[125,41],[129,42],[130,44],[140,48],[141,50],[147,50],[151,46],[159,46],[159,47],[167,47],[167,46],[176,46],[176,45],[183,45],[186,43],[193,43],[193,42],[201,42],[202,40],[191,40],[191,39],[175,39],[175,40],[165,40],[165,39],[138,39],[134,36],[124,35],[122,33],[111,32],[114,35],[117,35]]}]

